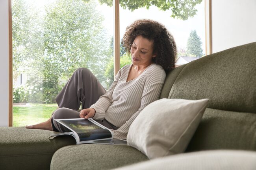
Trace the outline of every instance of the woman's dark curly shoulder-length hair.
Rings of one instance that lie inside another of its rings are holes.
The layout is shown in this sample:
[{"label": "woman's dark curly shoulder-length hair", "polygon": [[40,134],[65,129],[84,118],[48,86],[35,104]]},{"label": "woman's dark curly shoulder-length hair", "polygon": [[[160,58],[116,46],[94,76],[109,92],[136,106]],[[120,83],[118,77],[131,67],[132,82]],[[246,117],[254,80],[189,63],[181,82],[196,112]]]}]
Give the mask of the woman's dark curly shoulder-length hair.
[{"label": "woman's dark curly shoulder-length hair", "polygon": [[166,71],[174,68],[177,54],[176,43],[165,26],[153,20],[143,19],[136,20],[126,27],[122,44],[128,53],[130,53],[134,39],[139,35],[153,42],[153,53],[156,53],[156,57],[152,59],[154,63],[159,64]]}]

